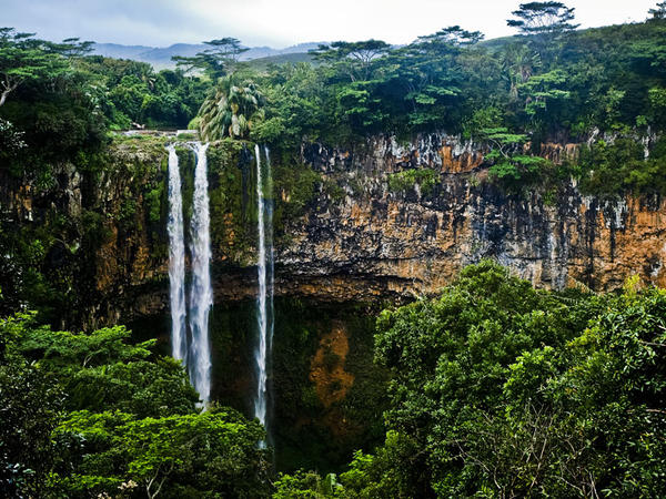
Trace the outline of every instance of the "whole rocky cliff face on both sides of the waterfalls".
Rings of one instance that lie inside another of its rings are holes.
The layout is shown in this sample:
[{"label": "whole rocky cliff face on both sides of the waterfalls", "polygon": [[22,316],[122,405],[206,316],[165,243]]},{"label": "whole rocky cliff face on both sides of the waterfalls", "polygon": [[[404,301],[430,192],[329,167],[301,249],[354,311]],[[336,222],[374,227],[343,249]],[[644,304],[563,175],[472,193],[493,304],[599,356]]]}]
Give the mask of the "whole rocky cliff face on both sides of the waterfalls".
[{"label": "whole rocky cliff face on both sides of the waterfalls", "polygon": [[[84,295],[81,319],[89,326],[168,306],[163,142],[117,143],[109,164],[93,174],[63,165],[50,191],[17,181],[0,187],[13,227],[47,224],[53,211],[75,221],[50,251],[57,246],[61,259],[77,262],[72,293]],[[230,141],[209,149],[219,299],[255,294],[251,150]],[[304,144],[295,159],[273,157],[276,213],[283,214],[275,227],[275,293],[405,299],[437,292],[484,257],[537,286],[608,291],[633,274],[666,286],[664,200],[597,200],[573,181],[547,197],[538,191],[507,196],[488,181],[486,152],[430,134],[403,144],[379,136],[353,150]],[[573,144],[543,149],[554,161],[575,152]],[[186,149],[180,156],[186,200],[193,159]],[[425,170],[427,182],[408,174]],[[392,182],[396,175],[400,183]],[[185,204],[185,218],[188,211]]]}]

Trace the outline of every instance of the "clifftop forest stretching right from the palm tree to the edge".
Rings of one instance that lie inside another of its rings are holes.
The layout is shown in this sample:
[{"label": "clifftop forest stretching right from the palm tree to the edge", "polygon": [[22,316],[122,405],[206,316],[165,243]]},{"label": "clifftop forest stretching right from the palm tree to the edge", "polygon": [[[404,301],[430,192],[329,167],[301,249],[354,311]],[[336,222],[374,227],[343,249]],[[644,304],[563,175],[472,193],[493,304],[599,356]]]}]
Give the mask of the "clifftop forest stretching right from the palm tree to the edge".
[{"label": "clifftop forest stretching right from the palm tree to the edge", "polygon": [[[323,45],[316,68],[274,67],[256,80],[269,95],[266,116],[279,116],[272,128],[285,134],[336,142],[380,131],[473,136],[506,126],[531,134],[536,146],[648,115],[648,91],[665,77],[660,23],[572,31],[573,9],[559,2],[516,12],[531,34],[511,41],[484,44],[478,33],[451,27],[396,49],[375,40]],[[488,102],[497,111],[483,116]]]}]

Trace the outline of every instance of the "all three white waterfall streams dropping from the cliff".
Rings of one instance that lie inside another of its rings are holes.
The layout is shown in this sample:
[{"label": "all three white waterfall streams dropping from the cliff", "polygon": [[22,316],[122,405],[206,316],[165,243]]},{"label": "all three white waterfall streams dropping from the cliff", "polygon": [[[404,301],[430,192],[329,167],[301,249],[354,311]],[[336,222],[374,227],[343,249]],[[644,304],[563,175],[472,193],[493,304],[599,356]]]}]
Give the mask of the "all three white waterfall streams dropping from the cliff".
[{"label": "all three white waterfall streams dropping from the cliff", "polygon": [[[211,395],[211,346],[209,339],[209,314],[213,306],[211,284],[211,235],[206,167],[208,144],[193,143],[196,155],[194,169],[194,196],[190,234],[192,277],[189,309],[185,302],[185,236],[183,228],[183,200],[178,155],[173,144],[169,150],[169,283],[171,295],[171,344],[174,358],[182,360],[190,380],[204,405]],[[261,150],[254,146],[256,165],[258,208],[258,278],[256,297],[258,338],[254,349],[256,363],[256,389],[253,397],[254,417],[269,434],[269,365],[273,342],[273,205],[265,192],[272,191],[271,161],[264,147],[265,163],[262,169]],[[262,171],[263,170],[263,171]],[[265,173],[265,177],[264,177]],[[265,180],[264,180],[265,179]],[[188,323],[189,317],[189,323]],[[188,328],[189,325],[189,328]],[[260,442],[265,447],[265,442]]]}]

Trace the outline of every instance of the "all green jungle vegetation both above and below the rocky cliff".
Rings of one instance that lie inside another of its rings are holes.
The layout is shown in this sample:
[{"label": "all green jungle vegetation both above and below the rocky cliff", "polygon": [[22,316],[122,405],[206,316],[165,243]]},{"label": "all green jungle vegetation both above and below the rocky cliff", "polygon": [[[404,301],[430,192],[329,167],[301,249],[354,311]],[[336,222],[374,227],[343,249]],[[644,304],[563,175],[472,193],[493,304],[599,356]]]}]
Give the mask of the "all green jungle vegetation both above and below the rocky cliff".
[{"label": "all green jungle vegetation both above and below the rocky cliff", "polygon": [[[91,55],[87,41],[2,28],[0,179],[48,205],[63,165],[91,183],[131,128],[190,128],[285,159],[303,141],[362,147],[373,134],[437,130],[486,144],[490,181],[508,195],[572,176],[601,197],[665,195],[666,2],[642,23],[576,30],[573,14],[531,2],[506,39],[450,27],[404,47],[334,42],[312,63],[261,68],[239,62],[244,49],[225,38],[160,72]],[[546,142],[584,145],[553,164],[539,155]],[[311,174],[292,173],[281,182],[314,189]],[[438,177],[404,173],[391,189],[416,180]],[[92,253],[103,216],[84,206],[79,225],[53,210],[24,226],[0,213],[0,496],[666,495],[663,289],[629,279],[616,295],[546,292],[493,262],[470,266],[438,297],[376,319],[375,363],[391,375],[384,444],[336,472],[276,475],[259,422],[202,410],[154,342],[122,326],[52,327],[74,306],[59,248],[81,232],[75,249]]]}]

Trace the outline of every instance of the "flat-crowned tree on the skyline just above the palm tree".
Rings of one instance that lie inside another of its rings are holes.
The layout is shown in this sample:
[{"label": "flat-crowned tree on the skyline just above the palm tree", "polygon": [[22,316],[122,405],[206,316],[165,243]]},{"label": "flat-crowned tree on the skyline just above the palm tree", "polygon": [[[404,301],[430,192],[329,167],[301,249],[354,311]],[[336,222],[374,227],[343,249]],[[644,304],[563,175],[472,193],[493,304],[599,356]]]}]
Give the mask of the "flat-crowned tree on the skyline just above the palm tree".
[{"label": "flat-crowned tree on the skyline just above the palm tree", "polygon": [[240,55],[250,50],[241,47],[241,41],[235,38],[222,38],[204,41],[203,43],[211,48],[196,53],[192,58],[174,55],[171,59],[175,61],[179,68],[184,68],[185,72],[198,69],[208,74],[213,81],[233,73]]}]

